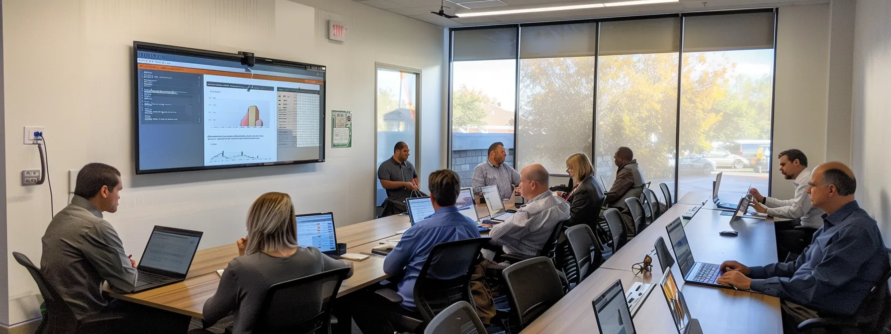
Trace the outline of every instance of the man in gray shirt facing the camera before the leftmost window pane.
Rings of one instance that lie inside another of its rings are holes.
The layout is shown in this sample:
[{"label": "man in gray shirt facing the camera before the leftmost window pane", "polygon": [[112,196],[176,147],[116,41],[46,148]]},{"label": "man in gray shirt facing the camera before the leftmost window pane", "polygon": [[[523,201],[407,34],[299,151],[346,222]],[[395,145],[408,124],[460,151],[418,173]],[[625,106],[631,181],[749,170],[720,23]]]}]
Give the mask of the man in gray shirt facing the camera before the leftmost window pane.
[{"label": "man in gray shirt facing the camera before the leftmost window pane", "polygon": [[493,143],[489,146],[489,158],[486,159],[486,162],[473,168],[473,179],[470,181],[470,186],[473,187],[474,194],[480,195],[483,192],[483,187],[496,184],[502,200],[511,198],[514,186],[519,184],[519,173],[511,165],[504,163],[506,158],[507,151],[504,150],[503,143]]}]

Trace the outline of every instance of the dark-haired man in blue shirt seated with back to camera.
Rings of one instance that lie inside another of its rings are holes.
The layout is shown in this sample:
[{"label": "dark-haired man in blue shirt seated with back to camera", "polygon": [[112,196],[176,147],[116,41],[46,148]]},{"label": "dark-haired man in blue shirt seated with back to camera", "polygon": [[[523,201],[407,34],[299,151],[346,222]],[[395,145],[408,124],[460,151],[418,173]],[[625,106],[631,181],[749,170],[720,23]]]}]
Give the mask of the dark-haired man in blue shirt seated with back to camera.
[{"label": "dark-haired man in blue shirt seated with back to camera", "polygon": [[[430,174],[429,187],[430,201],[436,212],[406,230],[396,248],[384,259],[384,273],[390,276],[403,274],[398,283],[398,294],[403,299],[400,307],[403,309],[396,312],[415,317],[419,315],[414,314],[414,282],[421,274],[421,268],[433,246],[448,241],[479,238],[477,224],[458,212],[458,208],[454,206],[461,193],[461,179],[458,175],[449,169],[437,170]],[[373,298],[357,298],[357,304],[363,304],[363,307],[358,307],[362,311],[355,314],[356,324],[365,334],[393,333],[388,310],[380,310],[383,305],[374,305]]]}]

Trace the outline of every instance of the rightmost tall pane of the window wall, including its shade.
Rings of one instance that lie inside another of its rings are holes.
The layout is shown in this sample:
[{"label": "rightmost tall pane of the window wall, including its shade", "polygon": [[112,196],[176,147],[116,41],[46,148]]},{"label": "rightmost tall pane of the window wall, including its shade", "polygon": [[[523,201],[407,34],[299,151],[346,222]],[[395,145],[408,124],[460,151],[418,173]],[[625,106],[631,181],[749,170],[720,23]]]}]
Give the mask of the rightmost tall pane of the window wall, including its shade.
[{"label": "rightmost tall pane of the window wall, including its shade", "polygon": [[772,12],[687,18],[683,50],[678,198],[712,191],[718,172],[724,201],[749,186],[767,192]]}]

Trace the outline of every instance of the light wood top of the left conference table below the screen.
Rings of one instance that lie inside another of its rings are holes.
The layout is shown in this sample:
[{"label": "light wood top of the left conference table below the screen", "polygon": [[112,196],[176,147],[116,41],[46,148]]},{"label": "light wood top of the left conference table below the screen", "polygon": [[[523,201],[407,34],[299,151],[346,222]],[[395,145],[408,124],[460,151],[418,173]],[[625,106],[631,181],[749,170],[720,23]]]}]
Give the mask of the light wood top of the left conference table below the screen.
[{"label": "light wood top of the left conference table below the screen", "polygon": [[[477,212],[479,216],[488,216],[485,205],[478,205]],[[409,226],[408,216],[388,216],[338,227],[337,236],[339,242],[347,243],[347,253],[371,253],[372,248],[378,246],[379,242],[401,238],[402,235],[396,232]],[[238,257],[238,248],[234,243],[201,249],[195,254],[185,281],[127,295],[111,292],[111,296],[177,314],[203,318],[204,303],[217,292],[220,281],[217,270],[225,269],[229,261],[235,257]],[[353,264],[353,276],[343,281],[338,296],[363,289],[388,277],[383,272],[383,258],[369,257],[360,262],[347,262]]]}]

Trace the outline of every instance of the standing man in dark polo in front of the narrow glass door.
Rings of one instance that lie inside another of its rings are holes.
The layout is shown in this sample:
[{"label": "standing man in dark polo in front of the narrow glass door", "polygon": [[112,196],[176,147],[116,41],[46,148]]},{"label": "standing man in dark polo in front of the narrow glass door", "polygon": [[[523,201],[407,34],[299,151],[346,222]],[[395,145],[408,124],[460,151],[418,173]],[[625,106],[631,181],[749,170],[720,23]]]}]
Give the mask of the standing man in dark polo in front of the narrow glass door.
[{"label": "standing man in dark polo in front of the narrow glass door", "polygon": [[405,199],[412,196],[412,191],[421,189],[418,183],[418,173],[408,161],[408,144],[396,143],[393,148],[393,157],[387,159],[378,167],[378,180],[380,186],[387,190],[387,200],[384,200],[384,212],[380,216],[393,216],[407,210]]}]

